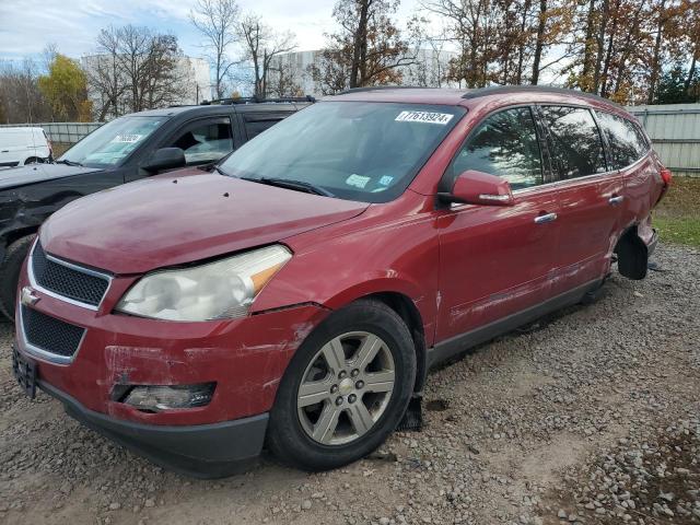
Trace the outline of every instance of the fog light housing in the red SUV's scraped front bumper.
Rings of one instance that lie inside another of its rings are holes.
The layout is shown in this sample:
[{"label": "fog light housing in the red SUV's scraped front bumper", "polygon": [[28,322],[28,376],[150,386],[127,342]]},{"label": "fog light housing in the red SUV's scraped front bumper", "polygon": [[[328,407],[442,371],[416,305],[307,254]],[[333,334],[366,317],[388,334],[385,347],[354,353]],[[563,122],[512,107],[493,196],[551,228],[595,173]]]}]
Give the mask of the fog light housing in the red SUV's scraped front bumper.
[{"label": "fog light housing in the red SUV's scraped front bumper", "polygon": [[[121,385],[120,385],[121,386]],[[119,401],[144,412],[161,412],[186,408],[206,407],[214,394],[215,383],[197,385],[129,385],[115,387]]]}]

